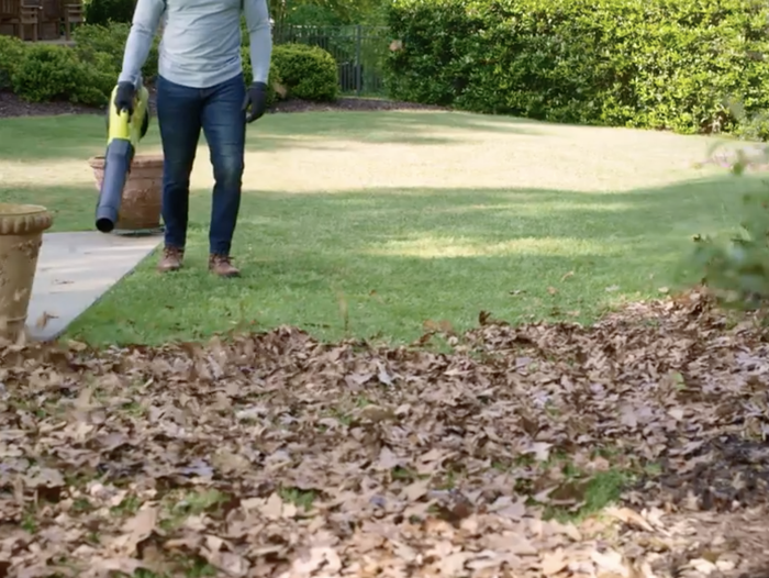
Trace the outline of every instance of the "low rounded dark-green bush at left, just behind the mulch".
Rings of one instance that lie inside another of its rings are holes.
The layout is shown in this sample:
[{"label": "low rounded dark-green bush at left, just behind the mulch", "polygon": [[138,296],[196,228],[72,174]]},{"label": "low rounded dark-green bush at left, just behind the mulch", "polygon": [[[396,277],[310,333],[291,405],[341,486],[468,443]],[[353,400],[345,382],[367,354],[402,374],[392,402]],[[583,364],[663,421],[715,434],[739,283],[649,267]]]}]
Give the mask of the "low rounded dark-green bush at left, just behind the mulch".
[{"label": "low rounded dark-green bush at left, just behind the mulch", "polygon": [[78,60],[75,52],[65,46],[36,44],[24,52],[11,82],[13,91],[27,101],[103,105],[114,78]]}]

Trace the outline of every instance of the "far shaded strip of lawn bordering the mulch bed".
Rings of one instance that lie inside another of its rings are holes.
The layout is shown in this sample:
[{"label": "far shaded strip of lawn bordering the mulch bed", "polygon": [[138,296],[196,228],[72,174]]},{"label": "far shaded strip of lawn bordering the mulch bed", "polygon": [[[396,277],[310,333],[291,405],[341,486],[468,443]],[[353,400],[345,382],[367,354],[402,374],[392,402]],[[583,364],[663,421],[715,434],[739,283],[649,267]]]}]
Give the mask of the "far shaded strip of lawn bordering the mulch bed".
[{"label": "far shaded strip of lawn bordering the mulch bed", "polygon": [[[138,154],[159,144],[152,118]],[[544,125],[543,125],[544,126]],[[447,132],[449,131],[449,132]],[[248,126],[249,151],[328,148],[330,138],[360,143],[439,145],[464,143],[479,133],[544,134],[533,121],[454,112],[308,112],[268,114]],[[317,142],[313,142],[317,138]],[[200,144],[205,138],[201,133]],[[104,119],[97,114],[0,120],[0,158],[10,162],[81,159],[103,154]]]}]

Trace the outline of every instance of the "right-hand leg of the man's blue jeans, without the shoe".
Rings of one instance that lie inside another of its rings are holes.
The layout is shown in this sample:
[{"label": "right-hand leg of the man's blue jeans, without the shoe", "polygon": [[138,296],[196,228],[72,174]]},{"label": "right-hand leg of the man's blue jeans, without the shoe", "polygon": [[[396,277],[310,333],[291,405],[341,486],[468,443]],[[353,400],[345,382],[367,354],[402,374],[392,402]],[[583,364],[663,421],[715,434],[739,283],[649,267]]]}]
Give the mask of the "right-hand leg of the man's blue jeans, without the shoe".
[{"label": "right-hand leg of the man's blue jeans, without the shoe", "polygon": [[243,76],[207,89],[203,134],[211,152],[214,187],[209,244],[212,254],[230,255],[241,209],[246,121]]}]

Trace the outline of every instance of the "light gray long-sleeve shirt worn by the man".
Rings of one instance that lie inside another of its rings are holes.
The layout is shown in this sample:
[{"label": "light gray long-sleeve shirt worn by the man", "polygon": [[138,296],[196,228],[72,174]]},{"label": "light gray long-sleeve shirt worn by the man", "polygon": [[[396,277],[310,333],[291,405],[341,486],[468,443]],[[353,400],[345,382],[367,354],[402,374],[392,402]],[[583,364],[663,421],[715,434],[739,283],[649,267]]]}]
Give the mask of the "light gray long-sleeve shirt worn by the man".
[{"label": "light gray long-sleeve shirt worn by the man", "polygon": [[119,81],[136,81],[161,18],[160,76],[192,88],[237,76],[243,70],[242,13],[250,38],[254,81],[267,82],[272,33],[266,0],[138,0]]}]

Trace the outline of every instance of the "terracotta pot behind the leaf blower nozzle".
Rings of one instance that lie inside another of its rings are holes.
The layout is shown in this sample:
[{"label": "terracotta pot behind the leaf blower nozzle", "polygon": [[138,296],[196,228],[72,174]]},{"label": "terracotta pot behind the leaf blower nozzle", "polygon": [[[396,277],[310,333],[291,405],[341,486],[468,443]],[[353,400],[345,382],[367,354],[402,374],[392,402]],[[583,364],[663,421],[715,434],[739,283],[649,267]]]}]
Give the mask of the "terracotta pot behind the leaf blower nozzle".
[{"label": "terracotta pot behind the leaf blower nozzle", "polygon": [[[101,190],[104,178],[104,157],[88,160],[96,177],[96,189]],[[136,155],[123,189],[123,200],[115,230],[137,231],[160,226],[160,200],[163,196],[163,156]]]}]

